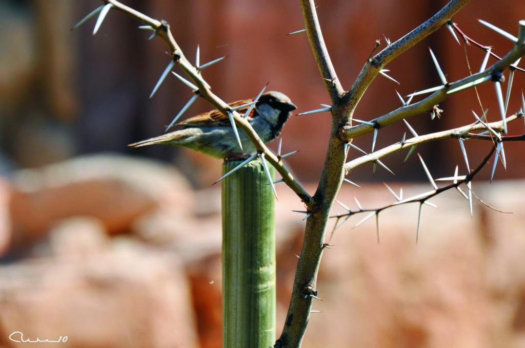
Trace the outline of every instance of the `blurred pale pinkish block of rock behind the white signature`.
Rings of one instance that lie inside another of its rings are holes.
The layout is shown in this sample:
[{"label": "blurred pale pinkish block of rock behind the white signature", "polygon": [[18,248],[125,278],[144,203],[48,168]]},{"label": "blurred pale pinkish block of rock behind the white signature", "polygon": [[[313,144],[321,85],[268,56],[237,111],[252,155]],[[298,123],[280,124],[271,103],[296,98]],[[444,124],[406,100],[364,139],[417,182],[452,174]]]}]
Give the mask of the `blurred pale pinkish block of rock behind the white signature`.
[{"label": "blurred pale pinkish block of rock behind the white signature", "polygon": [[0,267],[0,336],[56,340],[56,347],[197,347],[182,264],[117,238],[95,254]]}]

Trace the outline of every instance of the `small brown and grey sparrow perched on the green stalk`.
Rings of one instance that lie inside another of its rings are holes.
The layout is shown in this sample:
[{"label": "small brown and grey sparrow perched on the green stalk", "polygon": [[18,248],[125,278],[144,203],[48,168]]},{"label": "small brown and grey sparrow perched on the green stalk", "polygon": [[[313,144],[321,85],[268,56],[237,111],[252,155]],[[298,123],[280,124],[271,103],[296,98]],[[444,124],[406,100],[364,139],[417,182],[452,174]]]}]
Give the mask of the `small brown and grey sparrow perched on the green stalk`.
[{"label": "small brown and grey sparrow perched on the green stalk", "polygon": [[[229,104],[230,107],[244,105],[253,100],[240,100]],[[289,97],[280,92],[262,94],[259,101],[247,117],[264,143],[271,142],[279,136],[282,126],[288,121],[291,111],[297,107]],[[244,114],[248,109],[238,110]],[[183,146],[194,151],[200,151],[215,158],[239,157],[240,148],[232,129],[229,118],[218,110],[191,117],[176,125],[182,129],[158,137],[130,144],[130,147],[141,147],[153,144],[169,144]],[[254,153],[255,147],[244,132],[239,131],[240,141],[246,154]]]}]

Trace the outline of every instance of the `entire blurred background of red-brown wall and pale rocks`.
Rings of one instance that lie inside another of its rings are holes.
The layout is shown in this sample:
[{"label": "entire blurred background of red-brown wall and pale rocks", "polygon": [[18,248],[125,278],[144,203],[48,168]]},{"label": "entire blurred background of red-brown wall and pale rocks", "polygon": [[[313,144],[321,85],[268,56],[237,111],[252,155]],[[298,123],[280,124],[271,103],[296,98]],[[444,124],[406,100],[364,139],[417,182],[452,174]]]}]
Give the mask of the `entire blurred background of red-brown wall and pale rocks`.
[{"label": "entire blurred background of red-brown wall and pale rocks", "polygon": [[[297,1],[127,0],[125,4],[171,24],[189,59],[197,44],[201,61],[227,55],[204,77],[225,101],[270,90],[290,96],[297,112],[329,102],[305,35]],[[345,89],[369,57],[375,40],[392,41],[421,24],[445,1],[318,2],[323,35]],[[95,0],[0,0],[0,346],[14,346],[9,333],[57,339],[74,347],[220,347],[221,162],[185,149],[127,144],[160,135],[190,98],[167,77],[149,94],[170,58],[162,40],[117,11],[98,34],[96,19],[70,28],[100,6]],[[454,21],[472,39],[505,55],[511,42],[477,22],[482,18],[516,35],[525,3],[489,0],[468,4]],[[378,76],[355,117],[372,119],[400,106],[407,95],[439,84],[429,57],[436,53],[450,81],[468,74],[464,48],[445,28],[388,64],[400,85]],[[484,52],[468,47],[472,71]],[[491,59],[489,64],[494,63]],[[524,66],[521,63],[520,66]],[[178,68],[175,68],[177,70]],[[520,108],[525,74],[517,72],[509,113]],[[506,84],[503,84],[504,91]],[[490,121],[499,119],[492,85],[479,89]],[[415,97],[418,100],[420,97]],[[481,113],[474,90],[439,104],[442,117],[418,115],[418,134],[474,121]],[[197,101],[185,116],[209,110]],[[283,130],[283,151],[300,149],[288,165],[313,193],[324,161],[329,114],[293,116]],[[522,121],[510,124],[522,134]],[[376,148],[401,139],[397,123],[379,132]],[[370,149],[372,134],[354,140]],[[277,147],[277,142],[270,144]],[[490,149],[466,143],[470,166]],[[465,172],[457,140],[418,146],[435,177],[456,164]],[[337,230],[325,253],[318,289],[322,313],[313,314],[304,347],[525,347],[525,151],[505,146],[507,170],[490,164],[474,182],[482,200],[474,217],[457,192],[435,199],[423,211],[416,246],[417,207],[381,214],[381,244],[375,225],[352,230],[355,216]],[[380,206],[393,197],[381,184],[410,193],[428,190],[416,155],[384,159],[395,173],[372,165],[343,185],[339,199]],[[349,157],[358,156],[351,150]],[[421,183],[419,183],[421,181]],[[290,296],[304,222],[285,186],[278,187],[278,327]],[[335,208],[334,213],[343,212]],[[332,226],[329,226],[330,228]],[[49,344],[52,345],[52,344]]]}]

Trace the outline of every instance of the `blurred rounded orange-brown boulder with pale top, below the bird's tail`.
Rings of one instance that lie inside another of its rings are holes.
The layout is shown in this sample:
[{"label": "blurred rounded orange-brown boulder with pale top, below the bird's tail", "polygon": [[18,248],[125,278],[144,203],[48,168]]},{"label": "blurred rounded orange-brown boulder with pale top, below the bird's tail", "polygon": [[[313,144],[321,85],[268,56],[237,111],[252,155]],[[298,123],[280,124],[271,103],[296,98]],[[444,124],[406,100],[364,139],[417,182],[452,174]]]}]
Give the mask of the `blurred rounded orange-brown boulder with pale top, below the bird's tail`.
[{"label": "blurred rounded orange-brown boulder with pale top, below the bird's tail", "polygon": [[175,169],[117,155],[19,171],[14,182],[9,198],[14,249],[27,247],[65,217],[95,217],[109,234],[119,234],[155,209],[176,217],[193,206],[192,190]]}]

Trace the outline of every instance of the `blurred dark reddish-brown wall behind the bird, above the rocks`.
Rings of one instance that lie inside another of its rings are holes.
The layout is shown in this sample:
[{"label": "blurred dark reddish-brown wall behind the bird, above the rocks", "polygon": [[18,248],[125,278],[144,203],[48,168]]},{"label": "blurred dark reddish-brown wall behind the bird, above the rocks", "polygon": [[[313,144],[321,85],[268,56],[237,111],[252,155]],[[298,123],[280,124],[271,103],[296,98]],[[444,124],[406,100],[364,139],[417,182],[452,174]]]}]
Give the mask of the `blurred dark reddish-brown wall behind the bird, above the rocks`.
[{"label": "blurred dark reddish-brown wall behind the bird, above the rocks", "polygon": [[[204,72],[214,91],[226,101],[253,97],[269,81],[270,89],[291,97],[298,112],[328,102],[306,36],[285,35],[303,27],[297,1],[125,3],[154,18],[168,20],[188,57],[193,57],[197,43],[202,61],[228,55],[225,61]],[[383,35],[392,41],[400,38],[445,3],[319,1],[324,37],[344,88],[350,88],[375,39],[381,38],[384,47]],[[148,99],[169,57],[161,40],[146,40],[150,34],[138,30],[137,23],[123,14],[110,12],[95,37],[91,35],[95,19],[69,31],[96,6],[99,2],[95,0],[0,1],[0,171],[37,167],[77,154],[118,151],[173,161],[186,174],[191,173],[196,186],[208,186],[219,175],[220,161],[167,146],[126,147],[136,140],[161,134],[190,92],[176,79],[167,78],[156,95]],[[476,18],[516,33],[523,13],[524,2],[480,0],[468,4],[454,21],[467,35],[493,45],[494,51],[503,55],[511,47],[510,42],[480,25]],[[390,74],[401,85],[377,77],[355,116],[371,119],[400,106],[395,89],[406,95],[438,84],[427,46],[433,48],[450,80],[468,74],[463,47],[457,45],[448,30],[439,30],[388,64]],[[472,69],[478,69],[484,52],[475,47],[467,51]],[[519,108],[518,96],[524,81],[525,74],[517,73],[509,112]],[[479,93],[483,106],[490,107],[489,119],[498,119],[493,87],[484,85]],[[441,119],[430,121],[429,115],[411,119],[419,134],[471,122],[470,109],[478,114],[481,109],[475,92],[470,90],[450,97],[439,107],[444,110]],[[198,101],[187,116],[207,110],[207,103]],[[289,158],[290,167],[301,180],[319,177],[329,123],[328,114],[292,117],[283,131],[284,149],[301,150]],[[510,129],[516,134],[523,132],[521,123]],[[377,146],[397,142],[404,131],[401,123],[383,129]],[[366,135],[355,143],[367,149],[371,138],[371,134]],[[510,165],[507,172],[498,172],[500,178],[523,176],[523,168],[517,165],[525,159],[521,146],[506,145]],[[467,143],[472,166],[488,148],[485,143]],[[453,139],[420,146],[418,151],[436,175],[451,173],[455,164],[463,161]],[[351,152],[349,156],[355,155]],[[401,167],[404,156],[405,153],[399,153],[384,160],[396,172],[395,179],[424,179],[415,157]],[[355,170],[351,176],[358,181],[392,179],[381,170],[375,177],[370,173],[371,165]]]}]

